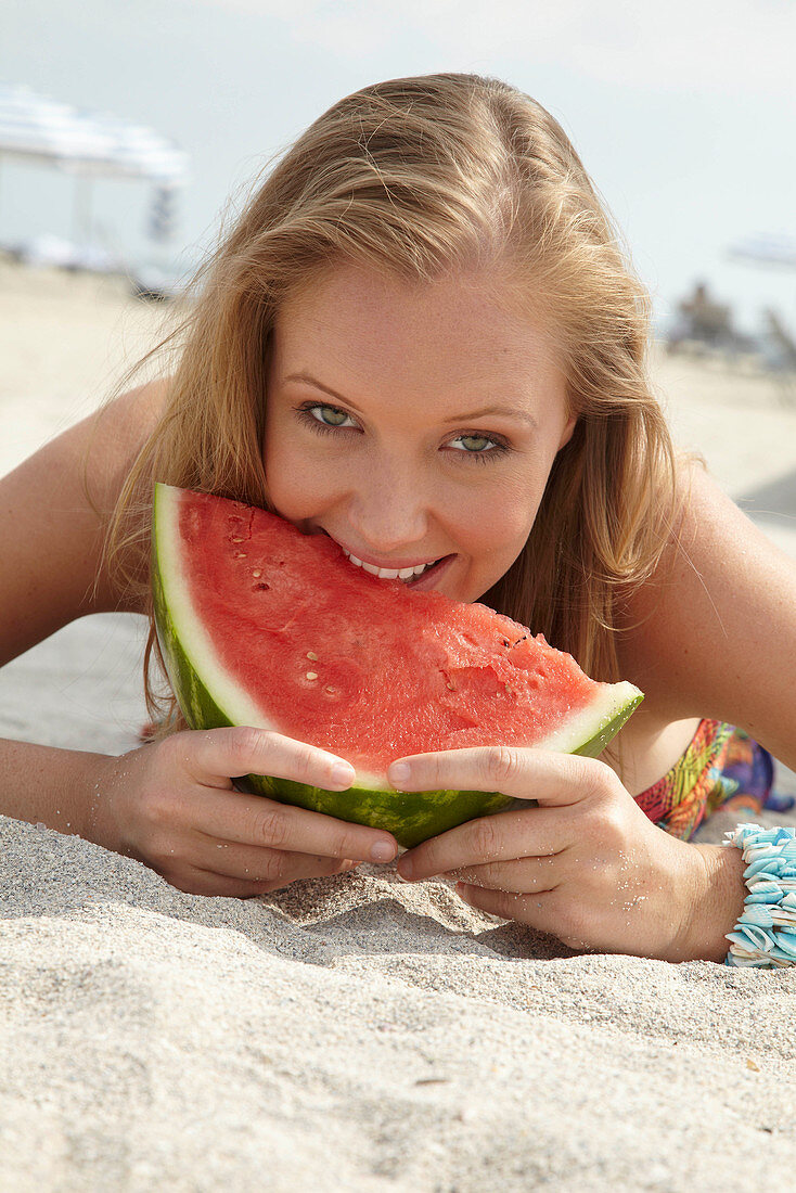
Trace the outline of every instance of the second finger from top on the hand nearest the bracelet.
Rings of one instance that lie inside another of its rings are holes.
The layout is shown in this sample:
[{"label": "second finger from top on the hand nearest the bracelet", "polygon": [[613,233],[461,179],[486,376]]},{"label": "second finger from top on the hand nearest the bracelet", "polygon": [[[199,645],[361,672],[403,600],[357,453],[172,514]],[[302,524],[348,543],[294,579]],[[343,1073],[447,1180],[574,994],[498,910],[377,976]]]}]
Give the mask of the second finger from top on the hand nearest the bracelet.
[{"label": "second finger from top on the hand nearest the bracelet", "polygon": [[459,866],[560,854],[576,839],[575,820],[561,808],[520,808],[480,816],[409,849],[397,870],[402,878],[416,882]]}]

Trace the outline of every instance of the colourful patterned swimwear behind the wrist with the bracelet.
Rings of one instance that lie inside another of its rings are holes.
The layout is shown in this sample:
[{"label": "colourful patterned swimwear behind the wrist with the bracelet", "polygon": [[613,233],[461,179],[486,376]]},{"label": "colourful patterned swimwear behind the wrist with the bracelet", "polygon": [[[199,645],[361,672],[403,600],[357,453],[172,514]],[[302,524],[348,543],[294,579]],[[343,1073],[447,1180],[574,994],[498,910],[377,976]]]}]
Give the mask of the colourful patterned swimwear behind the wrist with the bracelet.
[{"label": "colourful patterned swimwear behind the wrist with the bracelet", "polygon": [[689,841],[717,808],[749,820],[764,808],[784,811],[790,796],[771,790],[773,759],[748,734],[722,721],[701,721],[683,758],[636,803],[672,836]]}]

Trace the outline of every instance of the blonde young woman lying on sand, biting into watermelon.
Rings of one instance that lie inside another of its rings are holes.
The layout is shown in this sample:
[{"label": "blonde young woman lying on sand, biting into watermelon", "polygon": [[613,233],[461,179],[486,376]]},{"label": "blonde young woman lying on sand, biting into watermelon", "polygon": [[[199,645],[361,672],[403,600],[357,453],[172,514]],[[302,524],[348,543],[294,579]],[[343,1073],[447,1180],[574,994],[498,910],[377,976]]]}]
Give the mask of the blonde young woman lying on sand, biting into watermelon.
[{"label": "blonde young woman lying on sand, biting into watermelon", "polygon": [[[560,125],[473,75],[365,88],[283,156],[200,280],[173,370],[1,483],[2,659],[85,613],[152,614],[155,480],[267,506],[352,565],[433,563],[416,587],[482,600],[646,699],[606,760],[396,759],[402,789],[535,802],[399,873],[456,877],[474,905],[575,947],[721,960],[745,860],[687,839],[728,801],[761,809],[769,752],[796,766],[796,567],[675,458],[647,296]],[[0,810],[205,895],[395,858],[389,834],[236,792],[247,772],[354,777],[277,734],[172,716],[118,759],[2,743]],[[785,872],[788,841],[738,843]],[[788,960],[788,897],[777,940],[739,959]]]}]

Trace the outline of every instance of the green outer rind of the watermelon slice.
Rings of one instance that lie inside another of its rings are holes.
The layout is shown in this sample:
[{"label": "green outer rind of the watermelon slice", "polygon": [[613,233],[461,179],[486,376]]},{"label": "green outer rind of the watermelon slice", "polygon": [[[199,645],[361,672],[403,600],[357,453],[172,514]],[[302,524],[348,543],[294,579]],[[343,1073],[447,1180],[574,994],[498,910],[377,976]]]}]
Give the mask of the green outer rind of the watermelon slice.
[{"label": "green outer rind of the watermelon slice", "polygon": [[[233,716],[211,696],[197,668],[191,662],[192,654],[200,653],[196,644],[186,644],[187,633],[180,633],[172,610],[179,607],[179,596],[169,599],[163,588],[163,576],[168,576],[168,515],[169,506],[175,507],[178,489],[156,484],[153,509],[152,592],[155,628],[168,679],[177,696],[185,721],[191,729],[220,729],[235,724],[253,724],[258,718],[240,716],[246,709],[236,709]],[[175,593],[171,594],[172,598]],[[568,731],[556,731],[537,749],[557,749],[567,754],[597,758],[612,737],[622,729],[643,694],[633,684],[611,684],[605,690],[607,699],[597,712],[593,707],[586,715],[574,718]],[[247,703],[247,701],[243,701]],[[264,727],[260,716],[259,728]],[[596,723],[597,719],[597,723]],[[309,811],[322,812],[337,820],[391,833],[403,848],[413,848],[428,837],[438,836],[465,821],[488,816],[523,802],[499,791],[395,791],[372,781],[368,786],[353,786],[345,791],[327,791],[290,779],[247,774],[236,778],[236,785],[251,793],[266,796],[280,803],[294,804]]]}]

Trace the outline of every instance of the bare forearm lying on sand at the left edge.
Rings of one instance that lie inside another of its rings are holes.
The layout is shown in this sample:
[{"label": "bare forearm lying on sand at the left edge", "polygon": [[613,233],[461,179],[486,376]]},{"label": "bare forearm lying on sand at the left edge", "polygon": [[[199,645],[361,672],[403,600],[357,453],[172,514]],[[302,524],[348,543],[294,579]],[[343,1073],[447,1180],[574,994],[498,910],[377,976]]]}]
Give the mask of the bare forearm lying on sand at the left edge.
[{"label": "bare forearm lying on sand at the left edge", "polygon": [[94,814],[110,761],[106,754],[0,738],[0,815],[97,840]]}]

